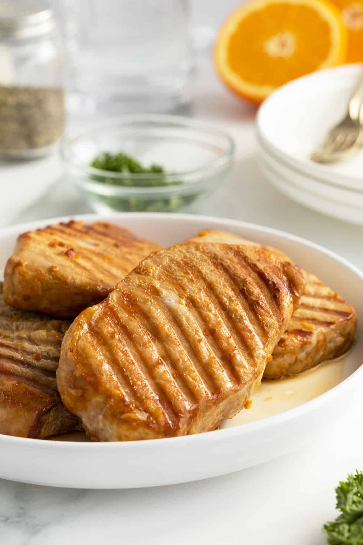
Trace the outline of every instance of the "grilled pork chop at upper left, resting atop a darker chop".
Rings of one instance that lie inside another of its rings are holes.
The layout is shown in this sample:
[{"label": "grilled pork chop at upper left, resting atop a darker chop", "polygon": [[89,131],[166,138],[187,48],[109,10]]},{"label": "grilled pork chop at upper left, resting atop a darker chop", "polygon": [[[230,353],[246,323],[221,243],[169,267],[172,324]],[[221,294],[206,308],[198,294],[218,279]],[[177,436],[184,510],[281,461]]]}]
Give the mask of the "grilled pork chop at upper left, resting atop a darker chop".
[{"label": "grilled pork chop at upper left, resting atop a darker chop", "polygon": [[17,239],[6,265],[4,300],[22,310],[74,318],[159,249],[104,222],[72,220],[29,231]]}]

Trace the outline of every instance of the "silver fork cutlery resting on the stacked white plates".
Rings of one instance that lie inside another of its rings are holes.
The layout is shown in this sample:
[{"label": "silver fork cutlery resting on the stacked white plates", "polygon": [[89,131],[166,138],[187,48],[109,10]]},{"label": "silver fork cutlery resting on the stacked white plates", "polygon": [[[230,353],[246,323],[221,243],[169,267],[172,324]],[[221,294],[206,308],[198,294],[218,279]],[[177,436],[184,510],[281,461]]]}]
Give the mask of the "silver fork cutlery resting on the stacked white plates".
[{"label": "silver fork cutlery resting on the stacked white plates", "polygon": [[363,74],[349,99],[348,112],[324,142],[316,148],[310,159],[317,163],[331,163],[348,159],[363,147]]}]

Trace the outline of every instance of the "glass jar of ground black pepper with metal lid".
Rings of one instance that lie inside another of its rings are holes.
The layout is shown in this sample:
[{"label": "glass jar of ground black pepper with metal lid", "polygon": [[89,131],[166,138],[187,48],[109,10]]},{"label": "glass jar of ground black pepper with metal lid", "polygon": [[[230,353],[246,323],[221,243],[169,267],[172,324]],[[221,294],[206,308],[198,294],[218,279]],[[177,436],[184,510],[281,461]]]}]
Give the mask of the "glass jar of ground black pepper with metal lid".
[{"label": "glass jar of ground black pepper with metal lid", "polygon": [[61,47],[47,5],[0,1],[0,157],[51,153],[64,130]]}]

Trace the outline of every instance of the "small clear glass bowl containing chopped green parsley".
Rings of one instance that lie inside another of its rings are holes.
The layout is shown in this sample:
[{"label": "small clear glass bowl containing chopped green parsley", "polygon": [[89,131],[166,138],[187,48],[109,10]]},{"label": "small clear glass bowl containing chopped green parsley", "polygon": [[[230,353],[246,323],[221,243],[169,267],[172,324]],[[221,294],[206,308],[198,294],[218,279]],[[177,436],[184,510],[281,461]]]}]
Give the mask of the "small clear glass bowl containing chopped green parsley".
[{"label": "small clear glass bowl containing chopped green parsley", "polygon": [[[195,211],[198,197],[216,189],[231,167],[234,148],[230,136],[193,119],[143,114],[64,139],[60,153],[67,178],[97,212],[176,212]],[[102,152],[124,152],[146,167],[161,165],[163,185],[158,173],[90,167]]]}]

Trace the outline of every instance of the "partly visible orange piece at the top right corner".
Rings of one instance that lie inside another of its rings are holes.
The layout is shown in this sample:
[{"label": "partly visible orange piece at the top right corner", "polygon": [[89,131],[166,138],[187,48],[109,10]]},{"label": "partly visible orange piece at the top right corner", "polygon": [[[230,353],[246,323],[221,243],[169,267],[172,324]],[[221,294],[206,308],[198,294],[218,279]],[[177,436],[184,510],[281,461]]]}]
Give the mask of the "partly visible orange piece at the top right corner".
[{"label": "partly visible orange piece at the top right corner", "polygon": [[343,23],[348,30],[348,63],[363,61],[363,2],[356,0],[333,0],[341,10]]}]

